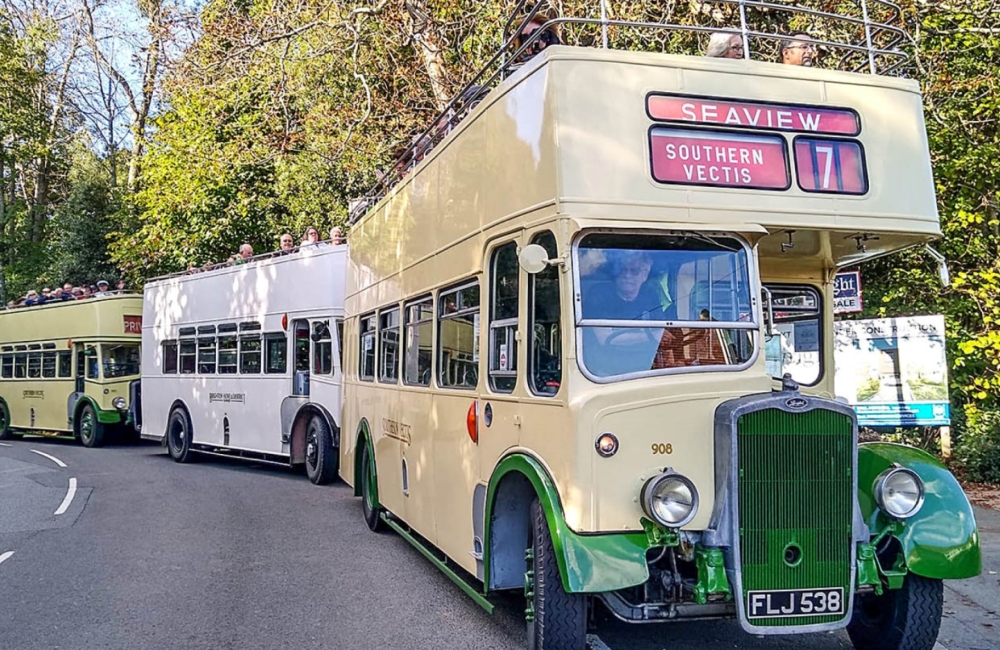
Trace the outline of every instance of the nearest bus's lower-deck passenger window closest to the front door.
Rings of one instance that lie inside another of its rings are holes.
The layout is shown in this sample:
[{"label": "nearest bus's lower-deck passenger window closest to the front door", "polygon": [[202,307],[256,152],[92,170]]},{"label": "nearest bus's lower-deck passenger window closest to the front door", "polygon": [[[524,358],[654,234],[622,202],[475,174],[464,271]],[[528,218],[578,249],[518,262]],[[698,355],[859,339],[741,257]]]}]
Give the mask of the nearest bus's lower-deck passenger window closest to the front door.
[{"label": "nearest bus's lower-deck passenger window closest to the front door", "polygon": [[479,385],[479,282],[441,292],[438,299],[438,383]]}]

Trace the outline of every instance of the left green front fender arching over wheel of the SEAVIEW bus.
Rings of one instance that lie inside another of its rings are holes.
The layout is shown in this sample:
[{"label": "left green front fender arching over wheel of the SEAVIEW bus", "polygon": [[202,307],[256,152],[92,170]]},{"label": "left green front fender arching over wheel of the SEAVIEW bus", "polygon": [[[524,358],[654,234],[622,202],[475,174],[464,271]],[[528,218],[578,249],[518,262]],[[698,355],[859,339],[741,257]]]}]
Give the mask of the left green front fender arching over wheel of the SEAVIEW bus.
[{"label": "left green front fender arching over wheel of the SEAVIEW bus", "polygon": [[486,493],[484,583],[490,584],[490,540],[493,505],[503,478],[516,472],[535,489],[545,512],[563,588],[569,593],[599,593],[642,584],[649,579],[644,532],[580,535],[566,524],[559,493],[545,468],[534,458],[511,454],[497,465]]}]

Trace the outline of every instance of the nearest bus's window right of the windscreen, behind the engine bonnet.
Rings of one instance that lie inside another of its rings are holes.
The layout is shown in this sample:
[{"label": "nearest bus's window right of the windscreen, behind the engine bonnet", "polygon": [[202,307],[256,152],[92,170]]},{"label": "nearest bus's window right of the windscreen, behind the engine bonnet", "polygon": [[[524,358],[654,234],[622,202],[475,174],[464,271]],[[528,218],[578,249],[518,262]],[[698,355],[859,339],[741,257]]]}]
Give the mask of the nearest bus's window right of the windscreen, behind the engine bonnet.
[{"label": "nearest bus's window right of the windscreen, behind the engine bonnet", "polygon": [[774,335],[764,339],[767,370],[775,379],[786,373],[803,386],[823,374],[822,303],[809,286],[768,285],[774,311]]}]

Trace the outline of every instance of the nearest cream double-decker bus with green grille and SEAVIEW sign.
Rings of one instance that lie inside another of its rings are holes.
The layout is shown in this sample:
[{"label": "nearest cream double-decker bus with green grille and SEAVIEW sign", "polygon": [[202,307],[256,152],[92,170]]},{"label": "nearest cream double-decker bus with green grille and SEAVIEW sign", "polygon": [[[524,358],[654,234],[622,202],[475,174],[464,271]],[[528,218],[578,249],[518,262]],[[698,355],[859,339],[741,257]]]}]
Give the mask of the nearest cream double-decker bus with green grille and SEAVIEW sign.
[{"label": "nearest cream double-decker bus with green grille and SEAVIEW sign", "polygon": [[980,572],[955,478],[834,393],[837,269],[940,236],[919,86],[857,21],[824,47],[869,74],[550,45],[354,220],[341,475],[485,609],[523,592],[529,648],[613,616],[929,650]]}]

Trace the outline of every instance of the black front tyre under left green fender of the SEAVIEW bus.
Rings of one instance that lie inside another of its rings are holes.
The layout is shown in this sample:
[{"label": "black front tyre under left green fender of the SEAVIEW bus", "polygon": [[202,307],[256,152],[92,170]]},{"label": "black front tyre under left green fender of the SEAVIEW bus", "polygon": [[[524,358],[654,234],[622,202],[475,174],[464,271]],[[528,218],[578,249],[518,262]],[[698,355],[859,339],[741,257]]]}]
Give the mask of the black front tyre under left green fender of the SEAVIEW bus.
[{"label": "black front tyre under left green fender of the SEAVIEW bus", "polygon": [[563,589],[552,536],[538,499],[531,503],[528,650],[583,650],[587,644],[587,601]]}]

